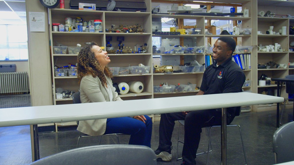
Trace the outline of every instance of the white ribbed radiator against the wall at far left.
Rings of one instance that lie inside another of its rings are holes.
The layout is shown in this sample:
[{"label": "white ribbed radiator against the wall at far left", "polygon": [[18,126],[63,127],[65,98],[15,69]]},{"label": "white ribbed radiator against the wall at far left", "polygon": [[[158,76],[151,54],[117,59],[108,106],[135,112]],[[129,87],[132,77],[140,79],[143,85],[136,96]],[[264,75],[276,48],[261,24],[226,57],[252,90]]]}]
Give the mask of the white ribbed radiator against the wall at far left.
[{"label": "white ribbed radiator against the wall at far left", "polygon": [[0,73],[0,94],[19,95],[29,93],[27,72]]}]

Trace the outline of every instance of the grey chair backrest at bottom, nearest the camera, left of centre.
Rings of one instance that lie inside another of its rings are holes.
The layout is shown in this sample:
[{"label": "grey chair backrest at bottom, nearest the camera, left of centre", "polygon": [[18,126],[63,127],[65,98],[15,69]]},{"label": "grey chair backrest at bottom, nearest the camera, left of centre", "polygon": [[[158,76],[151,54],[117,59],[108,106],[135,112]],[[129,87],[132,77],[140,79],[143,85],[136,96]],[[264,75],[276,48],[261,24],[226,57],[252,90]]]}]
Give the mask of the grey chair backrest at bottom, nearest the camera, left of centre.
[{"label": "grey chair backrest at bottom, nearest the camera, left of centre", "polygon": [[111,144],[88,146],[47,156],[30,165],[156,165],[154,151],[146,146]]}]

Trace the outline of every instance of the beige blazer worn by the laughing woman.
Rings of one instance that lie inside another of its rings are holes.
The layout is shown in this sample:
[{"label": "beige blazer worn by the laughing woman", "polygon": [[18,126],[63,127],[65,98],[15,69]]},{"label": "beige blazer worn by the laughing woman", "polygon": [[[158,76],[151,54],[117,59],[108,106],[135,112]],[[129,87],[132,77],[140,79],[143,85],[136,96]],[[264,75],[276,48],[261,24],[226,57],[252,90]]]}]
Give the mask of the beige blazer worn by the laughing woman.
[{"label": "beige blazer worn by the laughing woman", "polygon": [[[112,86],[111,79],[107,76],[105,77],[107,83],[112,89],[113,100],[111,101],[122,101],[121,98],[118,97],[118,93],[115,92],[115,88]],[[81,80],[80,92],[81,103],[110,101],[108,90],[106,87],[103,87],[98,76],[96,78],[93,78],[92,75],[84,76]],[[106,110],[101,110],[99,107],[97,107],[97,111]],[[91,136],[103,135],[106,130],[106,119],[80,121],[77,130]]]}]

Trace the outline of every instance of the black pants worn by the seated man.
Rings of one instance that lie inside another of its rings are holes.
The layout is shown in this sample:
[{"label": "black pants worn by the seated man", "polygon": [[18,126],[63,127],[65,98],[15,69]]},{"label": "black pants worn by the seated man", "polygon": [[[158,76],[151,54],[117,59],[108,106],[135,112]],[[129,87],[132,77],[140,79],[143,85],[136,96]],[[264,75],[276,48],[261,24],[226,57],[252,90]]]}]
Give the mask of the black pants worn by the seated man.
[{"label": "black pants worn by the seated man", "polygon": [[159,149],[171,148],[171,136],[176,120],[185,120],[185,137],[183,146],[183,161],[187,165],[196,164],[196,152],[200,142],[203,127],[221,125],[221,110],[191,111],[186,116],[182,112],[161,114],[159,124]]}]

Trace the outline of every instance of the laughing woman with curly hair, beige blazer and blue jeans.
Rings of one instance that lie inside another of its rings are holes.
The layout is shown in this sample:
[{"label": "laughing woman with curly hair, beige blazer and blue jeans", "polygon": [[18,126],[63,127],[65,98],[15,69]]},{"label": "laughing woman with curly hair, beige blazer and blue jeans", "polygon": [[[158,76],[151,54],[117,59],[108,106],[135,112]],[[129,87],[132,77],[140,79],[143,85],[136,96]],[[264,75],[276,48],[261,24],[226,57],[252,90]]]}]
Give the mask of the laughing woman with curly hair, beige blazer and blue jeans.
[{"label": "laughing woman with curly hair, beige blazer and blue jeans", "polygon": [[[77,71],[82,103],[123,101],[112,85],[112,73],[108,63],[110,59],[107,52],[95,42],[81,49]],[[99,110],[105,111],[97,107],[97,111]],[[151,147],[152,120],[147,115],[80,121],[77,130],[91,136],[129,134],[129,144]]]}]

